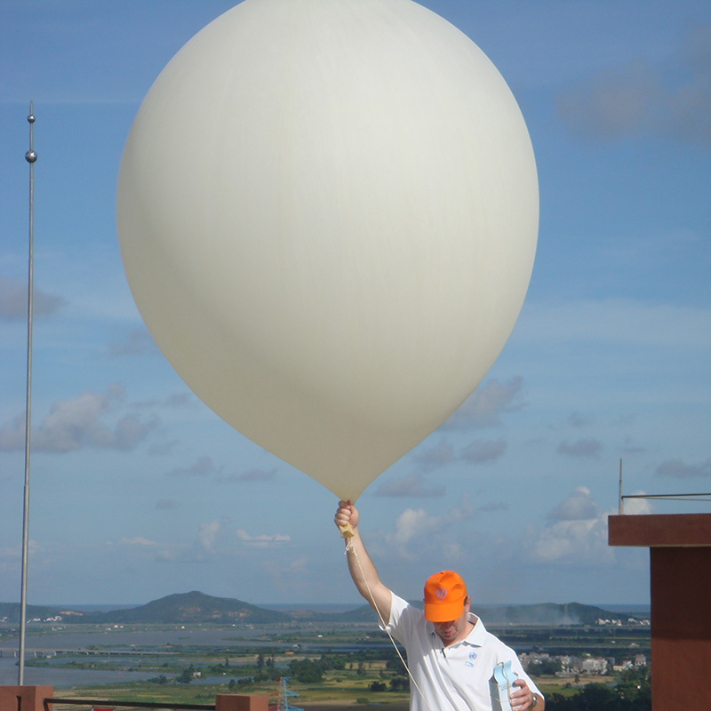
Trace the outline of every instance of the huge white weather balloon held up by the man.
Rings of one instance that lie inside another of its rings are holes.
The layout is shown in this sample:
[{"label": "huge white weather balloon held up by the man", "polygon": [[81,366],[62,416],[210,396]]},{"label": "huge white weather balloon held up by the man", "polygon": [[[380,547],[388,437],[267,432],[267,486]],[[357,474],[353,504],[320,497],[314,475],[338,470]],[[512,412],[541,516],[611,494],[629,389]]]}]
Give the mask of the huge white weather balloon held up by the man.
[{"label": "huge white weather balloon held up by the man", "polygon": [[141,315],[221,418],[343,499],[499,355],[538,232],[483,52],[410,0],[245,0],[148,92],[118,179]]}]

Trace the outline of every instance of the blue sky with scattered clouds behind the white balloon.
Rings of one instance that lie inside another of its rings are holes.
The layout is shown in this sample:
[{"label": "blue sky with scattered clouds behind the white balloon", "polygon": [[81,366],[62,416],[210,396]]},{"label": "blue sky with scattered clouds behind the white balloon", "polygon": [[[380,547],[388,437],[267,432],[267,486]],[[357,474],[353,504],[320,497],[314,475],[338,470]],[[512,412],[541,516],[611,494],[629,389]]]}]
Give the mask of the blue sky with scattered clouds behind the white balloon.
[{"label": "blue sky with scattered clouds behind the white balloon", "polygon": [[[20,599],[33,100],[28,603],[190,590],[361,602],[333,494],[188,390],[119,255],[132,119],[172,55],[232,4],[0,0],[0,601]],[[711,4],[421,4],[515,94],[539,171],[539,243],[491,371],[358,499],[363,540],[408,599],[454,569],[474,606],[647,603],[648,550],[607,545],[620,460],[627,495],[711,490]]]}]

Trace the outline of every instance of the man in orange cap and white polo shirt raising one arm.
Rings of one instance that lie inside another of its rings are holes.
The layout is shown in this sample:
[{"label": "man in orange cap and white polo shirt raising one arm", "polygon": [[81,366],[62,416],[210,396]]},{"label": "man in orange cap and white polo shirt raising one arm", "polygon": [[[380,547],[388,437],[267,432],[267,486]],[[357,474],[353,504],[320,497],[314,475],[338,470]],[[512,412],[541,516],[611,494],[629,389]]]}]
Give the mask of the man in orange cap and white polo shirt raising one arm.
[{"label": "man in orange cap and white polo shirt raising one arm", "polygon": [[[453,571],[436,573],[425,583],[425,609],[413,607],[379,579],[358,532],[358,511],[340,501],[335,522],[348,529],[348,571],[358,592],[381,624],[407,651],[412,688],[411,711],[491,711],[489,680],[499,662],[510,660],[518,678],[509,695],[515,711],[543,711],[545,700],[523,671],[515,651],[483,627],[469,611],[464,581]],[[351,535],[352,533],[352,535]]]}]

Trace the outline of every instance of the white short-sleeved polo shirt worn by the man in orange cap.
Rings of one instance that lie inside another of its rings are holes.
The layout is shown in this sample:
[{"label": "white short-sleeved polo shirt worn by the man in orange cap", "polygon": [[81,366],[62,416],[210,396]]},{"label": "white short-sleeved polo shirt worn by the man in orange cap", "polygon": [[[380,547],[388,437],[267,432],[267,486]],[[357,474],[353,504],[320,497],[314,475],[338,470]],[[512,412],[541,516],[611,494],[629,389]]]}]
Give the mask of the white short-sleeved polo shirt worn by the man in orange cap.
[{"label": "white short-sleeved polo shirt worn by the man in orange cap", "polygon": [[494,667],[507,659],[529,689],[542,696],[515,651],[487,632],[481,619],[471,613],[468,619],[475,627],[467,638],[445,647],[424,612],[393,594],[387,630],[404,645],[407,666],[419,686],[418,691],[411,685],[411,711],[491,711],[489,680]]}]

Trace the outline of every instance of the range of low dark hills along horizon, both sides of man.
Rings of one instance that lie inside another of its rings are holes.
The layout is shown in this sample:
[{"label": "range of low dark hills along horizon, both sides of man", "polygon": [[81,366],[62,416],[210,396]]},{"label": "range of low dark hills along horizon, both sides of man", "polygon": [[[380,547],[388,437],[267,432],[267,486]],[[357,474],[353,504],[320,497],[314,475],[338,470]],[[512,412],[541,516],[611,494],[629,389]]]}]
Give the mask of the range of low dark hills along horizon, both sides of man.
[{"label": "range of low dark hills along horizon, both sides of man", "polygon": [[[413,603],[420,608],[421,602]],[[603,610],[579,603],[534,605],[482,605],[472,611],[481,615],[487,625],[591,625],[600,618],[640,617],[627,613]],[[369,605],[348,612],[327,613],[307,610],[280,612],[265,610],[230,597],[213,597],[197,591],[168,595],[148,604],[107,612],[82,612],[68,608],[28,605],[28,619],[52,619],[60,615],[62,622],[85,624],[278,624],[280,622],[372,622],[377,623]],[[19,624],[20,604],[0,603],[0,622]]]}]

